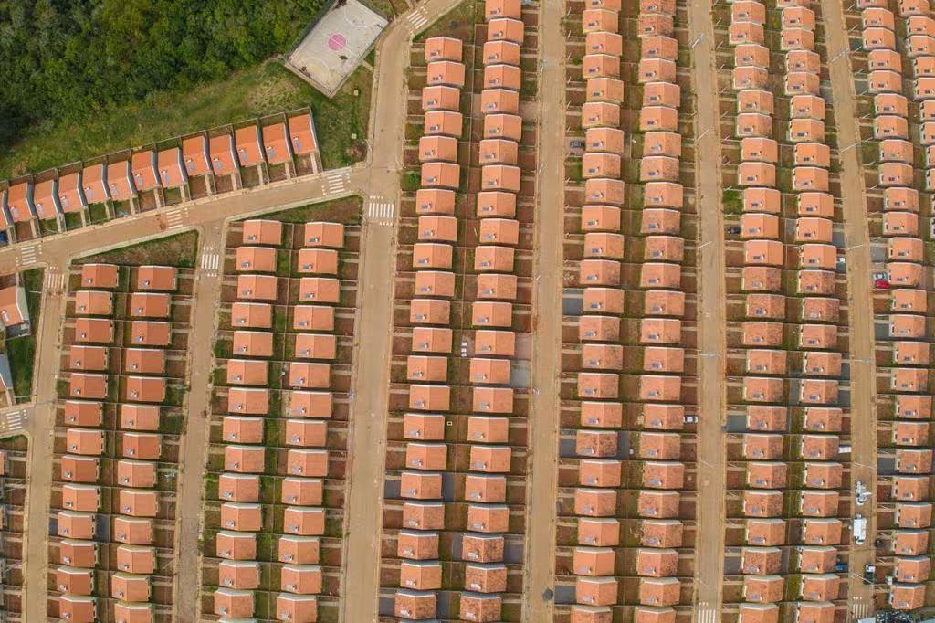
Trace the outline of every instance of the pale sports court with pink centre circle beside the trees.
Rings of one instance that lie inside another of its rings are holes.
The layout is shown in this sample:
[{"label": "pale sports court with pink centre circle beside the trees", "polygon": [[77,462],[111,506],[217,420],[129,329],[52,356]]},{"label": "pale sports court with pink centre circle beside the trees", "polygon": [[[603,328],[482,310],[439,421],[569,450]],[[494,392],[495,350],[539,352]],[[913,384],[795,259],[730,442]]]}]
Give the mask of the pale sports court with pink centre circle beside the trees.
[{"label": "pale sports court with pink centre circle beside the trees", "polygon": [[324,94],[334,95],[387,23],[357,0],[336,4],[296,46],[287,65]]}]

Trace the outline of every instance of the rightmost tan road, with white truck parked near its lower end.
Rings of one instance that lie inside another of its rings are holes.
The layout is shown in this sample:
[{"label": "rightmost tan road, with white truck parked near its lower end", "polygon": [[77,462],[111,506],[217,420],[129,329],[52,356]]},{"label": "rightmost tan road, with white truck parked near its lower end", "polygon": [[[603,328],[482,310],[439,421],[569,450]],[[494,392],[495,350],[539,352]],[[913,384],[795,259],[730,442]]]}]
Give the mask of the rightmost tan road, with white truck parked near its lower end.
[{"label": "rightmost tan road, with white truck parked near its lower end", "polygon": [[[841,204],[844,216],[844,245],[847,258],[847,305],[851,344],[851,482],[873,483],[876,478],[876,402],[874,396],[873,292],[870,288],[870,230],[864,200],[864,176],[855,145],[857,130],[856,98],[850,47],[841,3],[822,0],[827,56],[830,63],[831,99],[838,123],[841,147]],[[872,490],[873,487],[871,486]],[[864,565],[873,562],[876,538],[876,500],[853,507],[868,517],[867,540],[851,543],[848,581],[849,610],[854,613],[873,599],[873,588],[861,579]],[[856,575],[855,575],[856,574]]]}]

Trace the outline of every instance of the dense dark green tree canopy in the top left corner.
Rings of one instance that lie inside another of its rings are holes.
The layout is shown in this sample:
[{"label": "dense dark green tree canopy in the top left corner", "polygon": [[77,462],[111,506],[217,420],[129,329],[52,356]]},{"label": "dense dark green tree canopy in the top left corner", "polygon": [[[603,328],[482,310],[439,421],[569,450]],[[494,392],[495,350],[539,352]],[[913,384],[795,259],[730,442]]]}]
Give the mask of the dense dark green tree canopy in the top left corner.
[{"label": "dense dark green tree canopy in the top left corner", "polygon": [[285,51],[324,0],[0,0],[0,145]]}]

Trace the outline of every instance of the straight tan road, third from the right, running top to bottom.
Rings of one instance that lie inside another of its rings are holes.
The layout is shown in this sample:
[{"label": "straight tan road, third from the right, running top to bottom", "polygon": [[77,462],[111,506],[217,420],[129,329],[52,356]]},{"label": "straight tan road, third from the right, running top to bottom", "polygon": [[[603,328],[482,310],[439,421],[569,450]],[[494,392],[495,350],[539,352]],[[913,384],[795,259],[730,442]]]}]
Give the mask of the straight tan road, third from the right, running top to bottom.
[{"label": "straight tan road, third from the right, running top to bottom", "polygon": [[532,404],[526,485],[523,620],[551,621],[554,590],[555,500],[558,496],[558,426],[562,370],[562,263],[565,239],[564,0],[539,8],[540,85],[537,162],[536,275],[533,291]]}]

